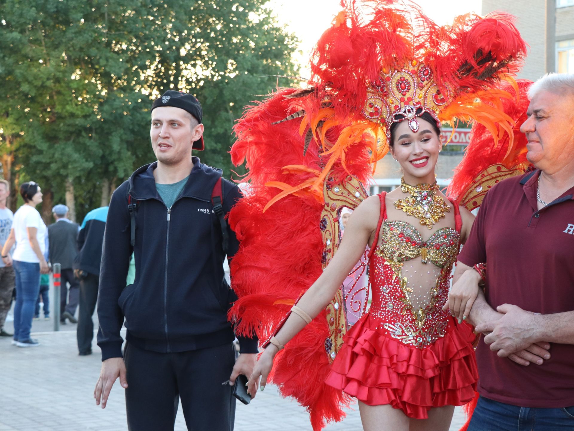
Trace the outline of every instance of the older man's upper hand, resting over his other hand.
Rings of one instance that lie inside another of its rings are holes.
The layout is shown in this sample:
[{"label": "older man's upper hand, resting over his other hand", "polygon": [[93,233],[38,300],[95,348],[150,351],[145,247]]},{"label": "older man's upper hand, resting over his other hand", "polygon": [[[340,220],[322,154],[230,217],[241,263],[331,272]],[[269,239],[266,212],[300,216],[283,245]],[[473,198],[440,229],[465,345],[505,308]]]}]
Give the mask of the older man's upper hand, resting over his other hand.
[{"label": "older man's upper hand, resting over his other hand", "polygon": [[536,339],[534,313],[511,304],[500,305],[497,310],[504,315],[496,321],[476,325],[476,331],[490,332],[484,337],[484,343],[490,344],[490,350],[498,351],[498,356],[505,358],[540,341]]}]

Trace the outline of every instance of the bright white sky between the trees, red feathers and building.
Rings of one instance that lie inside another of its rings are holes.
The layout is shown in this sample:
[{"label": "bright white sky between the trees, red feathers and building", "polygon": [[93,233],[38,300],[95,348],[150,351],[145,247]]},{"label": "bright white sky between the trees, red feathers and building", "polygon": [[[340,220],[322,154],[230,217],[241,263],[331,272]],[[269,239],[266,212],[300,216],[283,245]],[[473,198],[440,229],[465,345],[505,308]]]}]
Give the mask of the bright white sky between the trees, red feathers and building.
[{"label": "bright white sky between the trees, red feathers and building", "polygon": [[[482,7],[482,0],[418,0],[417,3],[439,25],[448,24],[457,15],[468,12],[480,14]],[[299,75],[309,77],[309,69],[305,66],[309,53],[341,10],[340,0],[269,0],[268,4],[278,21],[301,40],[302,55],[294,60],[302,66]]]}]

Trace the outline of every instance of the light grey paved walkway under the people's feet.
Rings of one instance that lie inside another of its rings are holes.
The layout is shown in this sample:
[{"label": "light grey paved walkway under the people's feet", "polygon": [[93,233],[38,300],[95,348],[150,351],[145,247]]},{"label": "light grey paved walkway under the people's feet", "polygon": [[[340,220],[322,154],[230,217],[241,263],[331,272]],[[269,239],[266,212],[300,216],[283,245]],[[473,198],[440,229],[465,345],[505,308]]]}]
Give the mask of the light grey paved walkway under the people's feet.
[{"label": "light grey paved walkway under the people's feet", "polygon": [[[34,328],[51,324],[34,322]],[[34,333],[41,344],[33,348],[18,348],[11,345],[10,339],[0,339],[0,431],[126,431],[125,401],[117,382],[106,409],[95,405],[94,385],[101,364],[99,348],[94,343],[93,355],[78,356],[76,332],[70,330],[75,325],[62,329]],[[344,421],[325,430],[361,430],[359,411],[354,407],[348,410]],[[456,431],[462,422],[463,414],[457,409],[451,431]],[[176,430],[185,429],[180,411]],[[281,398],[276,387],[269,385],[249,406],[237,403],[235,430],[311,430],[311,426],[303,407]]]}]

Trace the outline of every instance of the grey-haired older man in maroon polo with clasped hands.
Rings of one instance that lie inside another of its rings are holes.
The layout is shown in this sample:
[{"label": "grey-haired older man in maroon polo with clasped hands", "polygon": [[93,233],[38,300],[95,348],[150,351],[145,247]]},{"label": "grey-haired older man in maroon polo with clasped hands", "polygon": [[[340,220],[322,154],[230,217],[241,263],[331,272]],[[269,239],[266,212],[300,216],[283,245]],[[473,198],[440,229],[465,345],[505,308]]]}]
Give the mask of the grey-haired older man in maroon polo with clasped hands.
[{"label": "grey-haired older man in maroon polo with clasped hands", "polygon": [[[574,429],[574,74],[542,77],[529,100],[521,131],[537,170],[487,193],[455,273],[476,284],[472,266],[487,262],[469,316],[486,336],[468,431]],[[548,352],[517,358],[534,343]]]}]

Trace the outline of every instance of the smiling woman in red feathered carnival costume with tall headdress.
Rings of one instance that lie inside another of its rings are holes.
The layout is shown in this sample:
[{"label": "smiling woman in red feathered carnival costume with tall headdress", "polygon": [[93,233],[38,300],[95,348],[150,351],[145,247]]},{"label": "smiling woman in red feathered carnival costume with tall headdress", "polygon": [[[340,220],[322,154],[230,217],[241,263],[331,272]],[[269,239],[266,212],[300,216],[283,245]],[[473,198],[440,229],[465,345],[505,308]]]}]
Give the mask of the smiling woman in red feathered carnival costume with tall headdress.
[{"label": "smiling woman in red feathered carnival costume with tall headdress", "polygon": [[[509,15],[439,27],[410,3],[363,3],[367,14],[344,3],[321,37],[311,87],[276,92],[235,128],[232,158],[247,160],[251,189],[230,215],[242,239],[230,317],[239,333],[269,340],[249,380],[252,397],[269,376],[307,406],[313,429],[341,420],[351,396],[366,430],[448,430],[453,406],[475,397],[478,379],[475,336],[462,321],[472,297],[447,304],[474,217],[436,185],[440,126],[475,121],[495,145],[508,135],[510,148],[514,121],[502,100],[518,94],[510,76],[525,43]],[[501,80],[510,88],[498,88]],[[403,170],[401,187],[356,206],[333,255],[317,220],[325,231],[321,214],[331,209],[337,220],[342,208],[326,197],[352,178],[368,181],[387,151]],[[367,246],[371,308],[342,325],[344,343],[333,345],[329,303]]]}]

